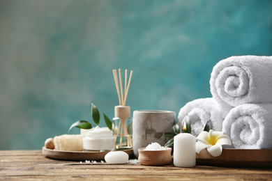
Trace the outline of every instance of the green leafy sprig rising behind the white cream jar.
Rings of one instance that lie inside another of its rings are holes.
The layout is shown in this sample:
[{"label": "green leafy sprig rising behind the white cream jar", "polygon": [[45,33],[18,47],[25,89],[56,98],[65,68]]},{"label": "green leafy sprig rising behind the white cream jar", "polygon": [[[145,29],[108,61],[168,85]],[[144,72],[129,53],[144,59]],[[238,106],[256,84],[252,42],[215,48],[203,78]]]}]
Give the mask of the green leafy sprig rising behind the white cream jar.
[{"label": "green leafy sprig rising behind the white cream jar", "polygon": [[[73,127],[77,127],[80,129],[91,129],[93,126],[98,126],[100,123],[100,112],[98,110],[98,108],[96,107],[95,104],[91,103],[91,116],[93,118],[93,122],[96,125],[93,125],[91,123],[89,123],[87,120],[78,120],[77,122],[73,123],[73,125],[70,126],[68,132],[70,132],[70,129],[72,129]],[[112,130],[112,121],[105,115],[105,113],[103,113],[103,117],[105,120],[105,123],[107,125],[107,127]]]}]

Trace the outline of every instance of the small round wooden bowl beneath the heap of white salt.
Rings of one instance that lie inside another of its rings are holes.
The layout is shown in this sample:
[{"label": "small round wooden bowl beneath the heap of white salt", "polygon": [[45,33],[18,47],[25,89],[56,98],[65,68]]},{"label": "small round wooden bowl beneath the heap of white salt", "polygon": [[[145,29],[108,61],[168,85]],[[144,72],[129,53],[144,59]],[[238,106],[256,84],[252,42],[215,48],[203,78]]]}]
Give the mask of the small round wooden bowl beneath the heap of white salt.
[{"label": "small round wooden bowl beneath the heap of white salt", "polygon": [[172,148],[165,148],[165,150],[144,150],[139,148],[139,163],[142,165],[167,165],[172,162],[171,150]]}]

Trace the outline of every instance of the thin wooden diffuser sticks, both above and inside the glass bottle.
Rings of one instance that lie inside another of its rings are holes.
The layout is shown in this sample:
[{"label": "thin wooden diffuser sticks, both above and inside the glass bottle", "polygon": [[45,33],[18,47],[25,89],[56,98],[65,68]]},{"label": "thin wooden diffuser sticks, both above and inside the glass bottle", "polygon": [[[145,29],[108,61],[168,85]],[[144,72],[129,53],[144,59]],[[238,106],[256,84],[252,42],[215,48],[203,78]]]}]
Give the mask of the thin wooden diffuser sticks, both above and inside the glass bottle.
[{"label": "thin wooden diffuser sticks, both above and inside the glass bottle", "polygon": [[[130,71],[129,79],[128,79],[128,70],[126,70],[124,87],[123,87],[123,82],[122,82],[121,69],[119,69],[119,80],[118,80],[117,70],[112,70],[112,72],[114,75],[114,82],[115,82],[115,86],[116,86],[117,95],[119,98],[119,105],[125,107],[126,106],[126,99],[128,97],[128,90],[130,87],[131,77],[133,76],[133,70]],[[119,140],[120,147],[122,147],[123,137],[126,137],[126,141],[127,141],[126,144],[128,145],[128,147],[132,147],[132,139],[131,139],[131,136],[128,134],[126,118],[120,119],[119,126],[118,126],[118,132],[116,134],[116,141],[117,141],[118,136],[120,136],[120,140]]]}]

